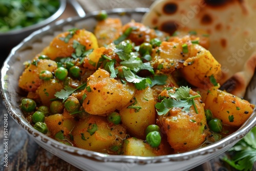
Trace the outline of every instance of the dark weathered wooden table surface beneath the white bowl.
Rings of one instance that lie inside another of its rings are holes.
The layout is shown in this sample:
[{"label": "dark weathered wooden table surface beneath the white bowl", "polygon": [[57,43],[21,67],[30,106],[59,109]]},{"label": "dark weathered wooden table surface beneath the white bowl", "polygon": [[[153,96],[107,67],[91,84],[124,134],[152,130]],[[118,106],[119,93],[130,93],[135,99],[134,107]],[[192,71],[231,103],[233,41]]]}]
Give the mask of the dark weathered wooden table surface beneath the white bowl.
[{"label": "dark weathered wooden table surface beneath the white bowl", "polygon": [[[74,8],[68,4],[61,18],[76,16]],[[7,57],[9,49],[1,50],[1,63]],[[7,110],[0,99],[0,170],[80,170],[73,165],[54,156],[44,148],[40,147],[19,125],[8,116],[8,167],[4,166],[4,114]],[[232,170],[216,157],[190,171],[200,170]]]}]

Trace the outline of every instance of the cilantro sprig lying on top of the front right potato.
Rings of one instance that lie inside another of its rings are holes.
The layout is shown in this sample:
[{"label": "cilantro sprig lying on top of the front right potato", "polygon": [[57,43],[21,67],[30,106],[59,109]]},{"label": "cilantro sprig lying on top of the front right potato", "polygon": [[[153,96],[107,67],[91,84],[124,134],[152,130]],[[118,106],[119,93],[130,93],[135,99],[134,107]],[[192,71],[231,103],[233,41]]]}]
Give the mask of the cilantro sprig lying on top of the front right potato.
[{"label": "cilantro sprig lying on top of the front right potato", "polygon": [[195,96],[190,96],[190,88],[180,87],[175,93],[169,93],[170,98],[164,98],[160,103],[158,102],[155,107],[157,109],[158,115],[165,115],[174,107],[181,108],[182,111],[189,112],[190,106],[194,105],[196,113],[197,107],[193,100],[197,97],[201,97],[199,94]]}]

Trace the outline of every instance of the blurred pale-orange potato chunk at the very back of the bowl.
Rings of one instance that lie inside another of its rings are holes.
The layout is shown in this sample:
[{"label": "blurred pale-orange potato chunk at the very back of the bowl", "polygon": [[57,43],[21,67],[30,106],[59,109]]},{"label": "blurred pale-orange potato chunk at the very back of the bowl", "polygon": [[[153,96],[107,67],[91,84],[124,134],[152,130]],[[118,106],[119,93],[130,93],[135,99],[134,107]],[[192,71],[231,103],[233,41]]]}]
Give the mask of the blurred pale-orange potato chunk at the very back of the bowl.
[{"label": "blurred pale-orange potato chunk at the very back of the bowl", "polygon": [[122,22],[120,18],[106,18],[98,22],[94,30],[99,47],[111,44],[121,33]]}]

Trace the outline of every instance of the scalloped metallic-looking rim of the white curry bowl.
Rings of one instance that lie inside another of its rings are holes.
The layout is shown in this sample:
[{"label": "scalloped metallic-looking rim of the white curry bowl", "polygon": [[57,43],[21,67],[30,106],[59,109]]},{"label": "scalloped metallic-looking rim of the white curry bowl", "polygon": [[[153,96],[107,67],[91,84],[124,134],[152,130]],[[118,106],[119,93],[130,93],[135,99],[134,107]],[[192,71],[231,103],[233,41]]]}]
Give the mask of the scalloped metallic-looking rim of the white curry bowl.
[{"label": "scalloped metallic-looking rim of the white curry bowl", "polygon": [[[112,10],[106,10],[109,14],[114,13],[145,13],[148,12],[148,8],[136,8],[136,9],[112,9]],[[7,57],[7,59],[4,62],[3,68],[1,70],[1,95],[4,100],[4,103],[6,105],[6,108],[10,114],[10,116],[21,126],[23,129],[30,135],[35,138],[37,138],[39,141],[43,141],[44,143],[50,143],[51,146],[54,148],[60,149],[62,151],[65,151],[67,153],[71,153],[73,155],[78,155],[82,157],[87,157],[89,159],[93,160],[99,160],[99,161],[113,161],[113,162],[129,162],[130,159],[133,159],[135,161],[144,162],[144,163],[155,163],[155,162],[168,162],[168,161],[183,161],[183,160],[189,160],[195,156],[198,155],[204,155],[204,154],[211,154],[215,153],[219,149],[223,148],[224,146],[227,146],[228,144],[236,143],[238,140],[243,138],[255,125],[256,125],[256,117],[252,117],[255,115],[255,109],[253,114],[250,116],[250,118],[234,133],[228,135],[227,137],[221,139],[220,141],[217,141],[215,143],[209,144],[207,146],[197,148],[185,153],[180,154],[170,154],[170,155],[164,155],[164,156],[156,156],[156,157],[138,157],[138,156],[122,156],[122,155],[109,155],[109,154],[103,154],[98,152],[89,151],[87,149],[82,149],[78,147],[68,146],[66,144],[60,143],[40,132],[33,129],[33,127],[28,123],[28,121],[24,117],[20,117],[19,114],[15,113],[15,111],[12,108],[12,105],[9,101],[6,99],[8,98],[8,94],[5,90],[5,76],[7,74],[7,71],[9,69],[8,62],[11,60],[11,58],[15,55],[15,53],[26,47],[26,43],[29,41],[33,41],[34,36],[38,36],[42,33],[48,32],[51,29],[54,29],[58,26],[65,26],[67,24],[79,22],[81,20],[94,17],[96,14],[98,14],[98,11],[94,11],[90,14],[87,14],[85,17],[70,17],[67,19],[62,19],[56,22],[54,25],[44,27],[40,30],[37,30],[33,32],[30,36],[25,38],[22,42],[20,42],[19,45],[14,47]],[[21,112],[21,111],[20,111]]]}]

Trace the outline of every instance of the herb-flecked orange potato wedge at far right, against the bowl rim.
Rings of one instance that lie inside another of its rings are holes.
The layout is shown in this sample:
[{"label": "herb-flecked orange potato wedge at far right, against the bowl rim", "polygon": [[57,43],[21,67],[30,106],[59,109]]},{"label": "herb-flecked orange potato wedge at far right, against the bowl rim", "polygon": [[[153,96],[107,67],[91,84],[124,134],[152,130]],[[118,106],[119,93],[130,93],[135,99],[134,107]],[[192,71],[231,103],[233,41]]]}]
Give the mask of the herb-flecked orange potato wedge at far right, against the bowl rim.
[{"label": "herb-flecked orange potato wedge at far right, against the bowl rim", "polygon": [[214,117],[223,124],[241,126],[252,114],[254,105],[219,89],[210,89],[204,100],[205,109],[209,109]]}]

